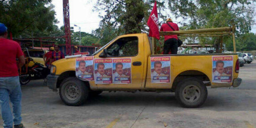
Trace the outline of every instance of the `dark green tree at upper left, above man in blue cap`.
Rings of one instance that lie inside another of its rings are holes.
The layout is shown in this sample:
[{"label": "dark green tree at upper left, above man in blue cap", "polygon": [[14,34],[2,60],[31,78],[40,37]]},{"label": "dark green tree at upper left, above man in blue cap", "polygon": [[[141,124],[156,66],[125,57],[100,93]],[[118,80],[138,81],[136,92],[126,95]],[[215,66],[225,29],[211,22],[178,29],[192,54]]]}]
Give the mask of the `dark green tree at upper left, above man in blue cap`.
[{"label": "dark green tree at upper left, above man in blue cap", "polygon": [[56,29],[52,0],[1,0],[0,21],[13,37],[30,37]]}]

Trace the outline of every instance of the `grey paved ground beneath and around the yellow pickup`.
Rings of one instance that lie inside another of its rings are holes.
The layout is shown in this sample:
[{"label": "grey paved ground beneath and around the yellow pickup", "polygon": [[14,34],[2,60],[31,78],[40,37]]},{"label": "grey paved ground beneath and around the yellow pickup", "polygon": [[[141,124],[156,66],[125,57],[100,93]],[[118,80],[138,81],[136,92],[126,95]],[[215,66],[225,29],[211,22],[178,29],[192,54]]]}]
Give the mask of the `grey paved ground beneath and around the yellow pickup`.
[{"label": "grey paved ground beneath and around the yellow pickup", "polygon": [[[65,106],[42,80],[22,86],[26,128],[256,128],[256,61],[240,68],[238,88],[209,89],[201,108],[181,108],[174,93],[103,92]],[[0,120],[2,126],[2,119]]]}]

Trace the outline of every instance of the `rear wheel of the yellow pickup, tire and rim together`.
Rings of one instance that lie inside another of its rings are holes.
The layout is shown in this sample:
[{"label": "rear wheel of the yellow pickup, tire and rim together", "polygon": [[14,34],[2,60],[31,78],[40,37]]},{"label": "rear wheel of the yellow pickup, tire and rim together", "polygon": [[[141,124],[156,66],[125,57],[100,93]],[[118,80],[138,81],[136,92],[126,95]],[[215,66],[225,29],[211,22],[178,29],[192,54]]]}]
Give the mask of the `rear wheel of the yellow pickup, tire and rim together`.
[{"label": "rear wheel of the yellow pickup, tire and rim together", "polygon": [[197,108],[201,106],[206,101],[207,95],[208,92],[204,83],[193,77],[182,80],[175,90],[176,99],[185,108]]}]

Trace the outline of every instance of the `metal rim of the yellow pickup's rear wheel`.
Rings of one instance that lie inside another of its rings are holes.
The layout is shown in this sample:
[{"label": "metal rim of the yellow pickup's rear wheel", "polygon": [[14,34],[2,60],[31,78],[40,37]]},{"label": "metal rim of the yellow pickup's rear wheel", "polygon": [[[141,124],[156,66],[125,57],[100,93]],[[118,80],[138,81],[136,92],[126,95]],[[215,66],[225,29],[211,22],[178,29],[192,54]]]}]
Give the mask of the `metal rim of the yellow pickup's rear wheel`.
[{"label": "metal rim of the yellow pickup's rear wheel", "polygon": [[196,102],[200,98],[201,92],[195,85],[189,85],[182,91],[183,98],[187,102]]}]

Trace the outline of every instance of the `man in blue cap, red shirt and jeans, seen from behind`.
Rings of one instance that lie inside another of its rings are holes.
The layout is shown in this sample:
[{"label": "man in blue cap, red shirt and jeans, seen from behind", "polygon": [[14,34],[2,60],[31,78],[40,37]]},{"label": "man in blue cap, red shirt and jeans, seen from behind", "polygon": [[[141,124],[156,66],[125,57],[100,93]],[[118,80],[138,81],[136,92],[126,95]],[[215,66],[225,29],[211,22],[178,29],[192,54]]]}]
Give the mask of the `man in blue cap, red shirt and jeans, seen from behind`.
[{"label": "man in blue cap, red shirt and jeans, seen from behind", "polygon": [[0,23],[0,106],[4,128],[13,128],[13,123],[14,128],[24,128],[21,123],[21,89],[16,58],[19,59],[19,67],[25,64],[20,45],[7,39],[7,27]]}]

